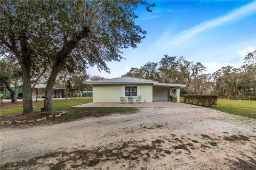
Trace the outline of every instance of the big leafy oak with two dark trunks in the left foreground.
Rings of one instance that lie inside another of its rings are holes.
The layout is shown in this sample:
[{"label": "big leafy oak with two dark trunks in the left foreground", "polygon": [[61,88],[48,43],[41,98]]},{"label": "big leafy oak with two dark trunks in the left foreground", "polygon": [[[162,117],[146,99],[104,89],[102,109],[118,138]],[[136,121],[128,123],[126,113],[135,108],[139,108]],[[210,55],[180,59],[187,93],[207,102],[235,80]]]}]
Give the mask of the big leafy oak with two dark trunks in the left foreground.
[{"label": "big leafy oak with two dark trunks in the left foreground", "polygon": [[1,2],[1,50],[14,54],[21,65],[23,113],[33,109],[31,69],[50,71],[44,109],[51,112],[55,79],[69,61],[108,72],[106,62],[121,60],[123,48],[137,47],[146,34],[134,23],[138,5],[149,12],[154,6],[143,0]]}]

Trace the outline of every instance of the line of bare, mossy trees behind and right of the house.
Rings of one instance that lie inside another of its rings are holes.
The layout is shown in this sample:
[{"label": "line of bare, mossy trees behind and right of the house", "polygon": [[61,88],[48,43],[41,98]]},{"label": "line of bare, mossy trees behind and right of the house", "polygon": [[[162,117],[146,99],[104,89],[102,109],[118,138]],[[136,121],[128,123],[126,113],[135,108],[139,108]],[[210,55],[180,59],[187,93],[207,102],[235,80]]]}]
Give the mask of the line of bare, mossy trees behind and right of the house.
[{"label": "line of bare, mossy trees behind and right of the house", "polygon": [[156,80],[162,83],[186,84],[181,94],[211,94],[228,99],[251,99],[256,94],[256,50],[244,57],[240,68],[225,66],[213,74],[200,63],[183,56],[164,55],[159,62],[132,67],[123,76]]}]

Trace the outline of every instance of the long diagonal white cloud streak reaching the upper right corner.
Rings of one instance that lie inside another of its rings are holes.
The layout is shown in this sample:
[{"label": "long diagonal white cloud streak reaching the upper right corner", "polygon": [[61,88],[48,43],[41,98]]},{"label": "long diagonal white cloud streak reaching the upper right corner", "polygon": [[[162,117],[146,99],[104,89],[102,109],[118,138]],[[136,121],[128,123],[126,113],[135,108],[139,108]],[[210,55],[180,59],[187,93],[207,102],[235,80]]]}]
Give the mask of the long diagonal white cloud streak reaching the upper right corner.
[{"label": "long diagonal white cloud streak reaching the upper right corner", "polygon": [[235,10],[224,16],[220,16],[219,18],[203,22],[193,28],[179,33],[176,38],[170,41],[169,45],[183,43],[184,41],[194,37],[202,31],[211,29],[213,27],[218,27],[219,25],[225,24],[233,20],[237,20],[239,18],[243,18],[248,15],[252,15],[254,13],[256,13],[256,2],[246,4],[242,7],[236,8]]}]

